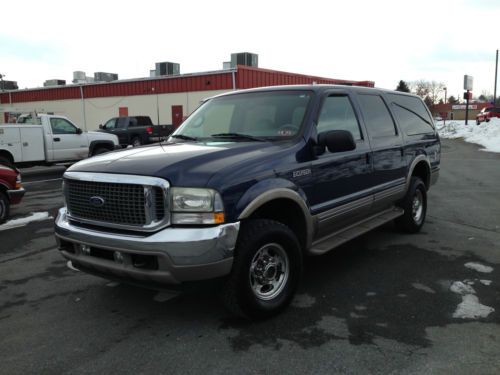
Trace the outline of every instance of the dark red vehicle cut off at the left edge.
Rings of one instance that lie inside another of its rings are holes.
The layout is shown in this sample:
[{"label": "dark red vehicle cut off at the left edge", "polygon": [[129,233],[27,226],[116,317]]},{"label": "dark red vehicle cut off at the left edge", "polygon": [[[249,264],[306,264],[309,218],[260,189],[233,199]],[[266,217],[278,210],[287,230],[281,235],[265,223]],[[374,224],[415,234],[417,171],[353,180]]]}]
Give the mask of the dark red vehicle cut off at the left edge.
[{"label": "dark red vehicle cut off at the left edge", "polygon": [[21,174],[11,166],[0,164],[0,224],[9,217],[11,204],[17,204],[24,195]]}]

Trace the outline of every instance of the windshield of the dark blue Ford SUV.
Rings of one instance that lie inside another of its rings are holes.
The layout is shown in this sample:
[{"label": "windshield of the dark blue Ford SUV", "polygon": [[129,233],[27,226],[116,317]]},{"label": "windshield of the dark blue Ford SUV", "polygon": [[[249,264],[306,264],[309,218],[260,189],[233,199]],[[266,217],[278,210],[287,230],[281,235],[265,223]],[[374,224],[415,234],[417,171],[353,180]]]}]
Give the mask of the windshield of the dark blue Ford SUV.
[{"label": "windshield of the dark blue Ford SUV", "polygon": [[204,103],[172,135],[217,141],[290,139],[300,133],[310,91],[269,91],[222,96]]}]

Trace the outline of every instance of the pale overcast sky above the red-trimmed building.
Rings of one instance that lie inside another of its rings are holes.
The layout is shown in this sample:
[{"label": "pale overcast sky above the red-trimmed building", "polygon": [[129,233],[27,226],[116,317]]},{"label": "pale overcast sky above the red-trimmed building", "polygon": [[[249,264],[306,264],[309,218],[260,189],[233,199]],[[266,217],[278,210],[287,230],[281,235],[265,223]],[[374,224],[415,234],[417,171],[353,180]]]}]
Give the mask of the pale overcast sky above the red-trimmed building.
[{"label": "pale overcast sky above the red-trimmed building", "polygon": [[499,0],[7,1],[0,73],[31,88],[75,70],[147,77],[159,61],[219,70],[248,51],[261,68],[389,89],[436,80],[448,96],[468,74],[474,95],[493,94],[499,20]]}]

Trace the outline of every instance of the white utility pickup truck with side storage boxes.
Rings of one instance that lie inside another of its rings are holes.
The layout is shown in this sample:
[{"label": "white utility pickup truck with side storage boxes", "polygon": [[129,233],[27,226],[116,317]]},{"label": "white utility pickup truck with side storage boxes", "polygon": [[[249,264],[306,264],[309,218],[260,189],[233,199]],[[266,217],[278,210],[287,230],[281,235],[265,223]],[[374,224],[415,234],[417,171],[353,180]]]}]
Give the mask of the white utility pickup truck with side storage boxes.
[{"label": "white utility pickup truck with side storage boxes", "polygon": [[23,115],[0,125],[0,163],[16,166],[81,160],[119,148],[116,135],[83,132],[68,118]]}]

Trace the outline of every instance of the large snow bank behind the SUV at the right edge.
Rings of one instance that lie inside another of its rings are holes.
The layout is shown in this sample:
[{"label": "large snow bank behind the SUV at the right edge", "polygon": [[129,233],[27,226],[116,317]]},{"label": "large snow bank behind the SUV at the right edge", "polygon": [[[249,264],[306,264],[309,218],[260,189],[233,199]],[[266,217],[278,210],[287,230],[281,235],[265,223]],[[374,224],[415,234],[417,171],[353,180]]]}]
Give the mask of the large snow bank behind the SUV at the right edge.
[{"label": "large snow bank behind the SUV at the right edge", "polygon": [[436,123],[441,138],[457,139],[463,138],[465,142],[475,143],[484,147],[483,151],[500,152],[500,119],[492,118],[490,122],[482,122],[476,125],[476,120],[470,120],[468,125],[465,121],[443,121]]}]

